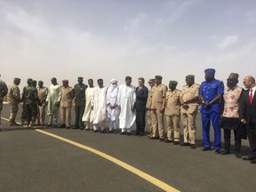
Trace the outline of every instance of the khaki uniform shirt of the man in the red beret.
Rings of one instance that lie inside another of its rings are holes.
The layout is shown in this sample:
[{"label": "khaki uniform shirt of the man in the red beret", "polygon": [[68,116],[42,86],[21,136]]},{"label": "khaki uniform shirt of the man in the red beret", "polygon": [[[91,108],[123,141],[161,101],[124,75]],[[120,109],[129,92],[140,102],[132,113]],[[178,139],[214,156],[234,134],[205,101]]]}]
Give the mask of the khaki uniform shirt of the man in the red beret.
[{"label": "khaki uniform shirt of the man in the red beret", "polygon": [[74,92],[73,88],[68,86],[68,87],[61,87],[60,88],[60,107],[63,108],[70,108],[72,107],[72,100],[74,98]]}]

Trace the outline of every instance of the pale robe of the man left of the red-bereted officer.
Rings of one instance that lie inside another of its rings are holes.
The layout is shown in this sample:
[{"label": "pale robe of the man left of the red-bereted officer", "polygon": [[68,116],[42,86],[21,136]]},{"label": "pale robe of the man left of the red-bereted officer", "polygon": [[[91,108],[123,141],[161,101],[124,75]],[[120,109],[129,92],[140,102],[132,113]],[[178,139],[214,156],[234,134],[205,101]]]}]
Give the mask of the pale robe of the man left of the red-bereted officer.
[{"label": "pale robe of the man left of the red-bereted officer", "polygon": [[47,114],[52,115],[52,113],[58,108],[56,103],[60,101],[60,84],[50,85],[49,93],[47,95],[46,101],[48,101]]}]

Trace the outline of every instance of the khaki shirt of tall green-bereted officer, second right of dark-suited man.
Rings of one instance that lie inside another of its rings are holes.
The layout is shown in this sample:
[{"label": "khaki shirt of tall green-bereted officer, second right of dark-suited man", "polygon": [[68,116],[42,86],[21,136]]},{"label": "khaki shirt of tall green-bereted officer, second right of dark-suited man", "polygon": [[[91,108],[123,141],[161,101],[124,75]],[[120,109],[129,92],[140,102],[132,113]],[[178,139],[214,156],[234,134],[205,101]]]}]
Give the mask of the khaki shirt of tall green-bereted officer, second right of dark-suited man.
[{"label": "khaki shirt of tall green-bereted officer, second right of dark-suited man", "polygon": [[151,108],[159,109],[163,106],[163,100],[166,97],[166,86],[164,84],[155,85],[151,90]]}]

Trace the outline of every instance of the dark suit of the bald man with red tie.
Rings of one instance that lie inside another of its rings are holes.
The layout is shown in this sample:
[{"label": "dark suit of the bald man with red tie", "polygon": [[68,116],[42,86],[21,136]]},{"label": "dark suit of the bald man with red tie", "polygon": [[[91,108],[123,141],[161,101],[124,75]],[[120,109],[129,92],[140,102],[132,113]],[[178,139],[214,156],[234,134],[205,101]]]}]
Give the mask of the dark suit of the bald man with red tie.
[{"label": "dark suit of the bald man with red tie", "polygon": [[252,152],[249,156],[256,159],[256,93],[252,98],[252,105],[249,100],[250,90],[242,92],[241,101],[239,104],[239,117],[245,119],[246,130]]}]

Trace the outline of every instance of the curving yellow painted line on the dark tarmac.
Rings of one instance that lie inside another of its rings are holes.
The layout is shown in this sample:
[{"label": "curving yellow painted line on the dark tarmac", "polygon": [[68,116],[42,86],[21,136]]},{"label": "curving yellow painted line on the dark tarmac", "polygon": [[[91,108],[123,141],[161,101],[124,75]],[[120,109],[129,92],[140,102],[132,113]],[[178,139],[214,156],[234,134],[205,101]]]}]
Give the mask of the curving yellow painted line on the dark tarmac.
[{"label": "curving yellow painted line on the dark tarmac", "polygon": [[[4,120],[7,120],[7,121],[8,121],[8,119],[5,119],[4,117],[2,117],[2,118],[3,118]],[[75,142],[75,141],[73,141],[73,140],[68,140],[68,139],[66,139],[66,138],[60,137],[60,136],[55,135],[55,134],[52,134],[52,133],[50,133],[50,132],[45,132],[45,131],[39,130],[39,129],[35,129],[35,131],[36,131],[36,132],[41,132],[41,133],[43,133],[43,134],[45,134],[45,135],[48,135],[48,136],[50,136],[50,137],[52,137],[52,138],[55,138],[55,139],[58,139],[58,140],[62,140],[62,141],[64,141],[64,142],[67,142],[67,143],[69,143],[69,144],[71,144],[71,145],[74,145],[74,146],[76,146],[76,147],[78,147],[78,148],[83,148],[83,149],[85,149],[85,150],[87,150],[87,151],[92,152],[92,153],[95,154],[95,155],[98,155],[98,156],[101,156],[101,157],[103,157],[103,158],[105,158],[105,159],[108,159],[108,161],[110,161],[110,162],[112,162],[112,163],[114,163],[114,164],[117,164],[117,165],[123,167],[124,169],[128,170],[129,172],[133,172],[134,174],[138,175],[140,178],[142,178],[142,179],[144,179],[144,180],[148,180],[148,182],[154,184],[154,185],[155,185],[156,187],[158,187],[158,188],[162,188],[164,191],[170,191],[170,192],[178,192],[178,191],[179,191],[178,189],[172,188],[172,186],[170,186],[170,185],[164,183],[164,182],[161,181],[161,180],[156,179],[155,177],[149,175],[148,173],[142,172],[142,171],[140,171],[139,169],[133,167],[132,165],[126,164],[126,163],[124,163],[123,161],[118,160],[118,159],[116,159],[116,158],[113,157],[113,156],[108,156],[108,154],[102,153],[102,152],[100,152],[99,150],[96,150],[96,149],[94,149],[94,148],[90,148],[90,147],[88,147],[88,146],[84,146],[84,145],[82,145],[82,144],[80,144],[80,143],[77,143],[77,142]]]}]

